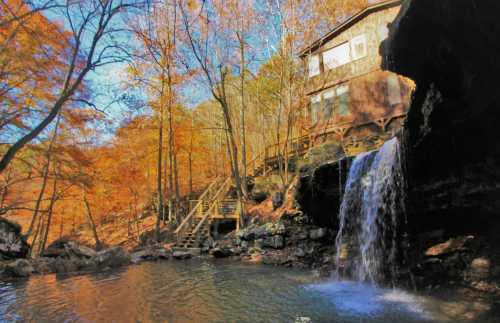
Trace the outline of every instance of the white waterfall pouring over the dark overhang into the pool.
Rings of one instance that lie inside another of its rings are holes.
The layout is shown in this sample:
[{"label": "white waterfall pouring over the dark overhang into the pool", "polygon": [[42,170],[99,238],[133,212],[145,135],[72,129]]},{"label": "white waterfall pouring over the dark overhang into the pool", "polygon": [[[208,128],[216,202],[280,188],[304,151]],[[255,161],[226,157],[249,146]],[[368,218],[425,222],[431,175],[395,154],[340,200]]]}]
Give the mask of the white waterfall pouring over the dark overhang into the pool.
[{"label": "white waterfall pouring over the dark overhang into the pool", "polygon": [[404,185],[396,138],[358,155],[349,169],[335,240],[337,276],[379,282],[396,276]]}]

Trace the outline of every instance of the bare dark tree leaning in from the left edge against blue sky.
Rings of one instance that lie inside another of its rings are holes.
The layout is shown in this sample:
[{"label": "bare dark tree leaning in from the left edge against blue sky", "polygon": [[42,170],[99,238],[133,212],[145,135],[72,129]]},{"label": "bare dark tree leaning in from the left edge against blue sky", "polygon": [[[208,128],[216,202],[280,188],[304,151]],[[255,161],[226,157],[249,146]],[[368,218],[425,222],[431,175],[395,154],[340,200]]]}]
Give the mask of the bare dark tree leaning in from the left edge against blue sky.
[{"label": "bare dark tree leaning in from the left edge against blue sky", "polygon": [[115,28],[113,24],[116,23],[116,17],[137,7],[137,1],[125,0],[66,2],[60,13],[69,26],[70,46],[62,53],[55,48],[51,49],[66,59],[67,68],[57,82],[53,100],[38,107],[46,111],[46,114],[35,127],[10,145],[0,159],[0,172],[5,170],[19,150],[40,135],[65,104],[70,101],[86,101],[84,97],[78,96],[78,89],[90,71],[125,59],[124,46],[116,41],[119,39],[117,33],[123,29]]}]

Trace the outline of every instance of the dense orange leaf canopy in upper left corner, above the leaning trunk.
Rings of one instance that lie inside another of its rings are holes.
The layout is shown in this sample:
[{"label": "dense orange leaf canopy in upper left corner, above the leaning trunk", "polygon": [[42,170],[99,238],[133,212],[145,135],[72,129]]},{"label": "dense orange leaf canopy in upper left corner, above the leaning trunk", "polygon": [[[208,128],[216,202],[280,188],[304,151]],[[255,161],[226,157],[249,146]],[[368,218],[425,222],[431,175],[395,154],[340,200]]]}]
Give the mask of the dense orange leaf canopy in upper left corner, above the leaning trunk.
[{"label": "dense orange leaf canopy in upper left corner, above the leaning trunk", "polygon": [[33,124],[34,110],[46,112],[59,95],[72,49],[67,31],[30,10],[21,0],[0,4],[0,102],[16,113],[2,126]]}]

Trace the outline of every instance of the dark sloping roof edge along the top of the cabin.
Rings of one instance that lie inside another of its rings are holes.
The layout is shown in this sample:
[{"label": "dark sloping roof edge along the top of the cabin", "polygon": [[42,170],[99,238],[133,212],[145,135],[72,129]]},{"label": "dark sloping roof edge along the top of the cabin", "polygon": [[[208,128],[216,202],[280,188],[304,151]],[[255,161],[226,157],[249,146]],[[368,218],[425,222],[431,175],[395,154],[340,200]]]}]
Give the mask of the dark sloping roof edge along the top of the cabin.
[{"label": "dark sloping roof edge along the top of the cabin", "polygon": [[402,0],[388,0],[388,1],[383,1],[383,2],[378,2],[376,4],[372,4],[365,9],[359,11],[355,15],[351,16],[349,19],[346,21],[340,23],[337,25],[335,28],[330,30],[328,33],[323,35],[321,38],[315,40],[313,43],[311,43],[309,46],[306,48],[302,49],[299,53],[299,57],[304,58],[311,52],[317,50],[319,47],[321,47],[323,44],[328,42],[329,40],[335,38],[338,34],[341,32],[345,31],[346,29],[350,28],[352,25],[360,21],[361,19],[365,18],[369,14],[379,11],[379,10],[384,10],[387,8],[392,8],[395,6],[401,5],[403,1]]}]

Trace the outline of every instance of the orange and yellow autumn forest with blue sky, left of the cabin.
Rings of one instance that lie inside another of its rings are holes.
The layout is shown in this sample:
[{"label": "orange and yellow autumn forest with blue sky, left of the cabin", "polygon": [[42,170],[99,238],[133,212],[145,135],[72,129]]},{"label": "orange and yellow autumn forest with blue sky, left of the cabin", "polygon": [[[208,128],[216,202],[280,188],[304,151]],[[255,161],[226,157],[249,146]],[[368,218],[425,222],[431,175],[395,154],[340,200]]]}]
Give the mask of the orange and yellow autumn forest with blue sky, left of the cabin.
[{"label": "orange and yellow autumn forest with blue sky, left of the cabin", "polygon": [[[83,14],[75,18],[64,16],[66,2],[47,3],[0,4],[0,153],[65,99],[0,172],[0,215],[23,225],[35,253],[65,236],[116,244],[155,222],[175,227],[214,179],[244,179],[267,146],[286,149],[308,127],[298,51],[366,5],[68,2]],[[92,34],[99,10],[121,20]],[[99,70],[118,81],[110,107],[95,95],[102,75],[89,77]],[[289,185],[288,169],[279,172]]]}]

